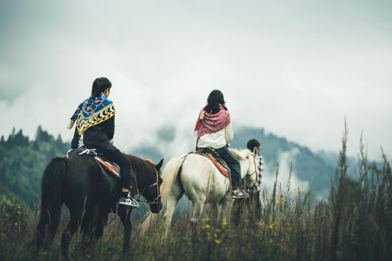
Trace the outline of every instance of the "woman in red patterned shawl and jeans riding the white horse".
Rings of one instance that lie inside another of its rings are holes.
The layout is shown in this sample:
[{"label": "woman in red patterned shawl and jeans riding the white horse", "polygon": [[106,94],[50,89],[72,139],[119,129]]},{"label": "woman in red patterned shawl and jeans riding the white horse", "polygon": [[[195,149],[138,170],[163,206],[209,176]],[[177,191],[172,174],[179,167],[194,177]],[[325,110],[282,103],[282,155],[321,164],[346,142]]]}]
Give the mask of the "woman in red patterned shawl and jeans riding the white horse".
[{"label": "woman in red patterned shawl and jeans riding the white horse", "polygon": [[249,198],[243,191],[241,165],[227,147],[234,138],[230,114],[220,90],[213,90],[207,98],[207,105],[201,109],[194,131],[197,131],[197,148],[213,148],[231,170],[233,185],[232,198]]}]

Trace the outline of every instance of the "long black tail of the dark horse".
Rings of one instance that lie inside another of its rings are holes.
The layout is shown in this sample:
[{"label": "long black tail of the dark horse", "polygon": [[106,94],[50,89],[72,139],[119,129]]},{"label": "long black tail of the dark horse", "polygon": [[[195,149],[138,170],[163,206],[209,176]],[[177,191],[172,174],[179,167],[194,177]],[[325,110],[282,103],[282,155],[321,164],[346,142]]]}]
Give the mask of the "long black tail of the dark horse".
[{"label": "long black tail of the dark horse", "polygon": [[45,248],[51,245],[60,224],[65,166],[65,158],[55,157],[45,167],[41,180],[41,216],[31,242],[36,251],[39,251],[43,244]]}]

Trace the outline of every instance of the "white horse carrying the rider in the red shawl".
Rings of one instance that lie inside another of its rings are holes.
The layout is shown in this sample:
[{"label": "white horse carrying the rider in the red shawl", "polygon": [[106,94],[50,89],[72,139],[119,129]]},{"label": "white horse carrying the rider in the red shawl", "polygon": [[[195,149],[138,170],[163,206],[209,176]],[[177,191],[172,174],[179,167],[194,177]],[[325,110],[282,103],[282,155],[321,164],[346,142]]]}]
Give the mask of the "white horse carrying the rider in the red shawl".
[{"label": "white horse carrying the rider in the red shawl", "polygon": [[[230,149],[230,152],[240,161],[242,178],[245,177],[247,185],[253,187],[256,184],[258,169],[256,151]],[[178,173],[180,167],[181,171]],[[232,194],[232,190],[229,189],[230,180],[223,176],[208,158],[198,154],[172,158],[166,164],[162,178],[161,200],[163,205],[166,204],[166,212],[163,216],[165,222],[163,238],[167,237],[173,212],[183,194],[192,201],[193,211],[190,220],[192,229],[197,228],[205,204],[211,205],[212,217],[217,219],[220,216],[219,205],[222,205],[222,217],[228,220]],[[157,214],[149,213],[142,224],[142,232],[145,232],[157,217]]]}]

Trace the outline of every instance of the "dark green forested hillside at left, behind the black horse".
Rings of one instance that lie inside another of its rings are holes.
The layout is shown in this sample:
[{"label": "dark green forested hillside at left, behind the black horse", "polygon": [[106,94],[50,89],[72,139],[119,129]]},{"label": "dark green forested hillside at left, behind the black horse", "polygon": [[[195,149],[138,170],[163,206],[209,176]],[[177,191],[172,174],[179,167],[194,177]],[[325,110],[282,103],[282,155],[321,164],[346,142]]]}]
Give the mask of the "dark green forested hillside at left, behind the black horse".
[{"label": "dark green forested hillside at left, behind the black horse", "polygon": [[64,155],[71,144],[60,135],[54,138],[38,127],[36,139],[29,141],[22,130],[15,129],[7,139],[0,140],[0,196],[15,198],[23,205],[40,200],[42,171],[49,159]]}]

